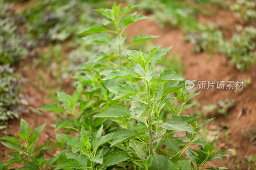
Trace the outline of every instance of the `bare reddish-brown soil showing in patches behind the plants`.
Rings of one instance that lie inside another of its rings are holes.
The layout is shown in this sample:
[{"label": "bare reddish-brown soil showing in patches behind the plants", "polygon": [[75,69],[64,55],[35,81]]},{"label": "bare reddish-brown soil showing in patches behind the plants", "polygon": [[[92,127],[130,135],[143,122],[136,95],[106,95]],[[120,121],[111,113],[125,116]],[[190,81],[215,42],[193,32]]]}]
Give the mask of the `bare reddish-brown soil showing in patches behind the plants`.
[{"label": "bare reddish-brown soil showing in patches behind the plants", "polygon": [[[24,4],[22,4],[24,5]],[[19,8],[18,6],[17,8]],[[219,22],[220,28],[223,31],[224,37],[230,38],[235,32],[234,26],[236,24],[243,24],[241,19],[235,18],[233,14],[228,10],[219,9],[218,13],[211,17],[199,16],[199,20],[203,23],[207,22]],[[250,70],[240,72],[234,66],[229,64],[228,58],[222,53],[209,55],[205,52],[196,54],[193,52],[193,44],[185,41],[184,32],[180,29],[162,29],[154,21],[150,19],[141,20],[139,22],[133,23],[127,28],[126,33],[128,33],[128,38],[132,39],[133,36],[138,34],[151,34],[151,35],[161,35],[159,38],[155,39],[155,43],[163,45],[164,47],[169,47],[173,45],[169,54],[179,54],[183,56],[182,60],[184,63],[184,75],[188,80],[197,81],[240,81],[247,78],[251,78],[251,84],[243,88],[241,92],[235,90],[197,90],[201,92],[200,95],[196,97],[202,107],[205,104],[217,104],[219,100],[223,99],[235,99],[236,105],[228,112],[228,117],[223,115],[215,115],[215,120],[208,126],[209,131],[217,131],[217,147],[223,150],[234,151],[233,154],[228,154],[223,160],[214,160],[210,162],[208,167],[225,166],[230,169],[236,169],[236,163],[240,160],[245,160],[247,156],[254,155],[256,157],[256,146],[253,145],[253,135],[256,135],[255,121],[256,121],[256,68],[252,66]],[[28,62],[26,64],[29,67],[32,65]],[[36,68],[34,68],[36,70]],[[19,70],[20,74],[34,82],[36,82],[36,71],[24,71]],[[52,80],[50,75],[49,81]],[[47,83],[47,82],[45,82]],[[65,85],[65,92],[72,93],[73,86],[69,82]],[[24,83],[24,88],[28,95],[30,96],[29,105],[35,108],[42,107],[48,104],[49,101],[46,100],[46,91],[39,91],[38,88],[31,84],[29,81]],[[240,111],[241,116],[238,116]],[[36,115],[32,112],[28,114],[21,115],[18,119],[13,119],[8,122],[7,135],[17,136],[15,132],[19,132],[19,122],[23,118],[28,122],[29,125],[34,123],[34,128],[47,122],[44,131],[39,136],[39,145],[44,144],[51,138],[51,142],[54,142],[54,128],[51,127],[56,121],[49,115],[48,112],[43,112],[42,115]],[[220,131],[220,129],[224,129]],[[225,131],[226,129],[226,131]],[[228,133],[227,133],[228,132]],[[252,134],[252,133],[255,134]],[[224,134],[229,134],[226,137]],[[249,136],[246,137],[246,133]],[[4,155],[4,152],[10,152],[9,149],[1,145],[0,147],[0,158],[6,162],[10,160]],[[52,155],[54,152],[46,152],[46,155]],[[47,158],[47,156],[46,156]],[[19,167],[19,164],[16,165]],[[14,166],[12,166],[14,167]],[[247,169],[247,164],[242,164],[241,169]]]}]

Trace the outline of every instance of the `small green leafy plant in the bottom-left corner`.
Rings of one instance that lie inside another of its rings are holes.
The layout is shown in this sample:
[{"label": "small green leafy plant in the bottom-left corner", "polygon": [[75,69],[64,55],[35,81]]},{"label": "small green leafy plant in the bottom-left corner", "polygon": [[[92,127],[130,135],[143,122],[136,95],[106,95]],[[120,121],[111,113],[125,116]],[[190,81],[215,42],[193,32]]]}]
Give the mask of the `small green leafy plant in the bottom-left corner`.
[{"label": "small green leafy plant in the bottom-left corner", "polygon": [[28,122],[21,119],[20,133],[17,133],[17,135],[22,139],[22,142],[20,142],[20,139],[17,137],[1,137],[1,140],[8,141],[1,142],[1,144],[17,152],[5,153],[9,158],[11,158],[11,160],[4,164],[0,161],[0,168],[7,170],[11,164],[22,162],[27,168],[15,169],[42,170],[43,166],[44,169],[48,169],[48,167],[51,166],[61,155],[53,156],[51,159],[44,159],[45,150],[56,150],[53,146],[47,146],[50,140],[41,146],[36,146],[38,137],[45,125],[46,123],[37,127],[31,133],[33,125],[28,127]]}]

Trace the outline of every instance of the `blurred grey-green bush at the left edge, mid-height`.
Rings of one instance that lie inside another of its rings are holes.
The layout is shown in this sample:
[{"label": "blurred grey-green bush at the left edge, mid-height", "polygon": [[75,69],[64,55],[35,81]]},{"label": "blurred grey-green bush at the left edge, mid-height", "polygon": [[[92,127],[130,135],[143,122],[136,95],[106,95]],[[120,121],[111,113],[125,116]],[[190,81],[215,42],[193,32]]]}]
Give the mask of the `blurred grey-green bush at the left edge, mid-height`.
[{"label": "blurred grey-green bush at the left edge, mid-height", "polygon": [[9,118],[18,117],[21,104],[27,104],[20,98],[20,83],[10,64],[0,66],[0,129]]}]

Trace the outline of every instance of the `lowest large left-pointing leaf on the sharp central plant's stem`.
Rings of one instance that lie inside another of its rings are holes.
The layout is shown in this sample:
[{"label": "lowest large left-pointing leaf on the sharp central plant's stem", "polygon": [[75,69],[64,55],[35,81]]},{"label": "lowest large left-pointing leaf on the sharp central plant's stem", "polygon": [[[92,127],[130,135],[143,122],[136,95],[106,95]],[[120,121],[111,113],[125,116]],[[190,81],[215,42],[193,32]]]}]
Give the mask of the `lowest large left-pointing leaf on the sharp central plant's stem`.
[{"label": "lowest large left-pointing leaf on the sharp central plant's stem", "polygon": [[116,144],[121,144],[123,142],[126,142],[130,139],[138,137],[139,135],[140,135],[140,132],[139,133],[133,133],[132,130],[130,130],[130,129],[122,129],[116,134],[116,137],[114,138],[110,147],[112,147]]}]

